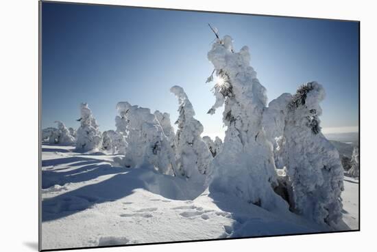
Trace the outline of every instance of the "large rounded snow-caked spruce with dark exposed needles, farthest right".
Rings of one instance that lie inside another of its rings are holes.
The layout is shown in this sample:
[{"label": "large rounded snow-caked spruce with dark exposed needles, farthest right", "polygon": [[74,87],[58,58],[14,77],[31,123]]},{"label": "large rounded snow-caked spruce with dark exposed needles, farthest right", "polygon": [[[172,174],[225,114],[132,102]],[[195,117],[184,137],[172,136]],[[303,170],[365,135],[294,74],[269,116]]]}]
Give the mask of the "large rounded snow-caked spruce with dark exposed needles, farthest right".
[{"label": "large rounded snow-caked spruce with dark exposed needles, farthest right", "polygon": [[284,163],[296,212],[317,223],[341,220],[343,167],[337,149],[319,126],[324,88],[316,82],[297,89],[287,105]]}]

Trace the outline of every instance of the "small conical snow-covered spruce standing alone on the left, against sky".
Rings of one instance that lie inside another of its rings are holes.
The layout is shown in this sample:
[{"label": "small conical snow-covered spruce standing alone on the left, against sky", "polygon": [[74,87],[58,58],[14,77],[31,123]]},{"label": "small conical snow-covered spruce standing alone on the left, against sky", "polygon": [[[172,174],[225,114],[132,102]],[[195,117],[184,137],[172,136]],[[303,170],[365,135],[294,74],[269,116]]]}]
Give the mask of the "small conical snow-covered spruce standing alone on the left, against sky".
[{"label": "small conical snow-covered spruce standing alone on the left, against sky", "polygon": [[81,126],[76,132],[76,150],[90,151],[97,150],[101,145],[101,132],[99,132],[95,117],[87,103],[80,104]]}]

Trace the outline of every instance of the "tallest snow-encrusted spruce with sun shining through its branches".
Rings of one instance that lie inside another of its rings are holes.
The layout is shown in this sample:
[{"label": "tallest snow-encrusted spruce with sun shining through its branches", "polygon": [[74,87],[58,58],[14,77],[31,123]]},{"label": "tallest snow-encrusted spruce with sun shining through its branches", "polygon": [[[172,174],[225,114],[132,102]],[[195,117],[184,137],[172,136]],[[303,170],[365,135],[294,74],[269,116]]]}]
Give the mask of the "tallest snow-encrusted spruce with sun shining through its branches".
[{"label": "tallest snow-encrusted spruce with sun shining through its branches", "polygon": [[287,211],[287,202],[273,191],[273,150],[262,127],[266,89],[250,66],[249,48],[235,53],[232,38],[224,36],[212,44],[208,59],[218,77],[213,87],[216,102],[208,113],[225,104],[223,122],[228,126],[223,148],[211,163],[210,191],[232,193],[267,210]]}]

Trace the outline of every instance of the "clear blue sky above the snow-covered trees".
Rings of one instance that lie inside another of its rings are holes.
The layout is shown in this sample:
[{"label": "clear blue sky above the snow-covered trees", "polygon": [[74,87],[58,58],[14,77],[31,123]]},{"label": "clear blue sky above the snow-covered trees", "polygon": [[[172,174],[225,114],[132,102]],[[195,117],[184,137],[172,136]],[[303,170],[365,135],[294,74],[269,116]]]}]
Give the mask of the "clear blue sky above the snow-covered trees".
[{"label": "clear blue sky above the snow-covered trees", "polygon": [[223,135],[222,111],[205,83],[215,36],[234,39],[236,51],[250,48],[251,65],[269,101],[294,93],[307,81],[326,89],[321,126],[328,132],[358,126],[358,23],[42,3],[42,128],[61,120],[79,123],[88,102],[100,130],[114,129],[115,105],[128,101],[178,117],[169,92],[182,86],[204,125],[204,135]]}]

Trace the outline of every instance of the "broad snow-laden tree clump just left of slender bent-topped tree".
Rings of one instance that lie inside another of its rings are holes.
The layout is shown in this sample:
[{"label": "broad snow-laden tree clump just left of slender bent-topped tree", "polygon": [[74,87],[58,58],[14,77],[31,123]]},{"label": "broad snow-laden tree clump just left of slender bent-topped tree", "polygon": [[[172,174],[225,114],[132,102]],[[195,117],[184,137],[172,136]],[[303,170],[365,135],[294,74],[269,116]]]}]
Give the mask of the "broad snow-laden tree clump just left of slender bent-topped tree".
[{"label": "broad snow-laden tree clump just left of slender bent-topped tree", "polygon": [[126,167],[153,165],[160,173],[175,172],[174,152],[156,116],[149,109],[118,102],[118,110],[127,111],[127,148],[121,160]]}]

